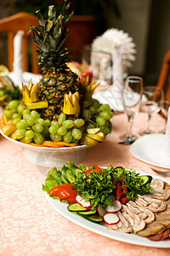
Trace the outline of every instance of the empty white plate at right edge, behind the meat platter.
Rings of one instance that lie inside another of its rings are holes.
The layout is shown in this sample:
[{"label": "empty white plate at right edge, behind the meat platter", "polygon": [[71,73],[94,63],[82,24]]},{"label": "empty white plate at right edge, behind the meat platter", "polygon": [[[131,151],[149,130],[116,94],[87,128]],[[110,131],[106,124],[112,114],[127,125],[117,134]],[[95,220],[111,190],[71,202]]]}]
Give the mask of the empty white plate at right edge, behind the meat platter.
[{"label": "empty white plate at right edge, behind the meat platter", "polygon": [[130,152],[134,157],[150,165],[168,169],[170,168],[170,154],[166,150],[165,142],[164,134],[146,134],[131,145]]}]

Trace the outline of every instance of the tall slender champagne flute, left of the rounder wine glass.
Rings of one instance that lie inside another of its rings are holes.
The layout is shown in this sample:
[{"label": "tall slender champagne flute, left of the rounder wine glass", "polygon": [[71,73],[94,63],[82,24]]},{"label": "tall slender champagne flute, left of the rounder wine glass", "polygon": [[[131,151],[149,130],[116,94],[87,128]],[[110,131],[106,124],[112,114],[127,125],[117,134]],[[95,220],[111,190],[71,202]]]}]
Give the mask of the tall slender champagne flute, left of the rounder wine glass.
[{"label": "tall slender champagne flute, left of the rounder wine glass", "polygon": [[127,77],[122,90],[122,103],[127,114],[127,133],[121,137],[125,144],[133,143],[136,137],[132,134],[133,118],[139,113],[143,92],[143,79],[137,76]]}]

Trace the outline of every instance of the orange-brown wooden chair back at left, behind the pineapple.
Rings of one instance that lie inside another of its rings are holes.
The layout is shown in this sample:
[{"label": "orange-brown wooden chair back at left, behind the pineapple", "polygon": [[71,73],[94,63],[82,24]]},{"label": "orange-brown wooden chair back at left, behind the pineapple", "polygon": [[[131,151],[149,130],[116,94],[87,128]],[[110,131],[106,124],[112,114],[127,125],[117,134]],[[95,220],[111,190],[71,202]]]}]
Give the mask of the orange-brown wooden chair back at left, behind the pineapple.
[{"label": "orange-brown wooden chair back at left, behind the pineapple", "polygon": [[[28,13],[18,13],[0,20],[0,32],[8,35],[8,68],[13,71],[14,61],[14,35],[19,30],[24,32],[22,40],[23,70],[25,72],[39,73],[37,64],[37,45],[31,41],[31,33],[28,34],[31,24],[37,26],[37,17]],[[31,70],[29,70],[28,49],[31,49]]]}]

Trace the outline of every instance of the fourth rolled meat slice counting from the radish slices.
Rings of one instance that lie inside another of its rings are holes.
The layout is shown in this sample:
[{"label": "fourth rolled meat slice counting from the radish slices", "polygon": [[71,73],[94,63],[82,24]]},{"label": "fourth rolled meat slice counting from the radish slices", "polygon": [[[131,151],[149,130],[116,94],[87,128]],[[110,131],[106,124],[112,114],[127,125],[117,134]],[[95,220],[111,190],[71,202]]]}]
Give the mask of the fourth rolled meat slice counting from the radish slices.
[{"label": "fourth rolled meat slice counting from the radish slices", "polygon": [[167,208],[167,204],[164,201],[157,200],[148,195],[139,195],[135,202],[141,207],[146,207],[151,212],[162,212]]}]

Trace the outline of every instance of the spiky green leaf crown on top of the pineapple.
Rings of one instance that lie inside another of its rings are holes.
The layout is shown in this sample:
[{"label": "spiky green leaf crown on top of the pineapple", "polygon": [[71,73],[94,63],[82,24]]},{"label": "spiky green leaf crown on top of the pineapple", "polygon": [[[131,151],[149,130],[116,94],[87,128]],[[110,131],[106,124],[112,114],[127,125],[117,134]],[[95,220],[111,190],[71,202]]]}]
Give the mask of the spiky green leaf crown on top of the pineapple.
[{"label": "spiky green leaf crown on top of the pineapple", "polygon": [[38,26],[30,27],[32,32],[32,41],[37,44],[38,64],[40,68],[48,67],[53,71],[59,67],[65,67],[65,63],[70,61],[71,53],[68,51],[65,41],[69,35],[69,30],[65,28],[65,24],[71,20],[73,12],[65,17],[65,12],[70,8],[70,4],[63,5],[59,15],[57,16],[54,5],[48,7],[48,20],[45,20],[37,10]]}]

